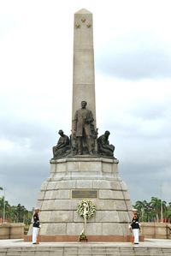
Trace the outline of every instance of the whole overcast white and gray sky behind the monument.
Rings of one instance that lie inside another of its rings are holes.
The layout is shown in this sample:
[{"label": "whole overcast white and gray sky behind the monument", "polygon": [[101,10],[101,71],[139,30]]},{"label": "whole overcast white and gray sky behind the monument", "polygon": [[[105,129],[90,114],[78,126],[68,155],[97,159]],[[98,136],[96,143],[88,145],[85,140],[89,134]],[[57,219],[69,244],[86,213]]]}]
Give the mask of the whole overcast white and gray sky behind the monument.
[{"label": "whole overcast white and gray sky behind the monument", "polygon": [[[35,205],[70,134],[74,13],[93,14],[97,127],[133,203],[171,201],[170,0],[0,0],[0,187]],[[0,196],[3,192],[0,192]]]}]

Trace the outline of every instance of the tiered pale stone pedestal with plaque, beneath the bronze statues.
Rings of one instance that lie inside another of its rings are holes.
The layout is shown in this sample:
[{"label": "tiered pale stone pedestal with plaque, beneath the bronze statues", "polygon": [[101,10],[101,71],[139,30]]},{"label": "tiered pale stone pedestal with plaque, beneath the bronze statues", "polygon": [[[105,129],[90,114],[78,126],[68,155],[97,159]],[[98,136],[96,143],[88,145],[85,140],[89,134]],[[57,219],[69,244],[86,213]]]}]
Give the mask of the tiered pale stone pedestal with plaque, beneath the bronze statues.
[{"label": "tiered pale stone pedestal with plaque, beneath the bronze statues", "polygon": [[[127,241],[132,204],[127,186],[118,176],[117,159],[76,156],[50,160],[50,177],[42,184],[41,241],[78,241],[84,227],[77,205],[91,199],[95,215],[87,221],[88,241]],[[29,230],[25,241],[31,239]]]}]

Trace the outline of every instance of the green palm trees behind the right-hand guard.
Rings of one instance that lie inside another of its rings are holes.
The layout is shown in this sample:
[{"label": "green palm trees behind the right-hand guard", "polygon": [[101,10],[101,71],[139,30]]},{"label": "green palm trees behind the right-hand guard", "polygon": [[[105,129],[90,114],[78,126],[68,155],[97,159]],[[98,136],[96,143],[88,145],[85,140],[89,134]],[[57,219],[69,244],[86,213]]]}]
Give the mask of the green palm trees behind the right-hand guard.
[{"label": "green palm trees behind the right-hand guard", "polygon": [[138,210],[141,222],[171,223],[171,202],[151,197],[150,202],[137,201],[133,207]]}]

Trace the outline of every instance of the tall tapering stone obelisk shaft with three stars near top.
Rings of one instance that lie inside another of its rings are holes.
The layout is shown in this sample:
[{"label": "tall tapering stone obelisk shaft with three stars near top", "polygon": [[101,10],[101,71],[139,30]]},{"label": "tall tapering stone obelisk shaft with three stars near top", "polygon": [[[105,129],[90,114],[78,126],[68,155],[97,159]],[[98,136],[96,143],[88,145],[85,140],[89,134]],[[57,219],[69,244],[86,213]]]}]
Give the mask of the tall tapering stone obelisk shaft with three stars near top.
[{"label": "tall tapering stone obelisk shaft with three stars near top", "polygon": [[92,111],[96,129],[96,101],[94,78],[92,14],[86,9],[74,14],[74,72],[73,72],[73,111],[80,109],[80,102],[87,102]]}]

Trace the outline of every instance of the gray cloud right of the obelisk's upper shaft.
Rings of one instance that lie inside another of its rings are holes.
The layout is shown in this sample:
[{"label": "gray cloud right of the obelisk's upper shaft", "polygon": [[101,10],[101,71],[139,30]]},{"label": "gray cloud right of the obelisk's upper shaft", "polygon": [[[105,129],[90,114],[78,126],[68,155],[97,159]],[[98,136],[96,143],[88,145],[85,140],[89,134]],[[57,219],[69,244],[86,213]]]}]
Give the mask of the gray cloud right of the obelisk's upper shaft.
[{"label": "gray cloud right of the obelisk's upper shaft", "polygon": [[148,30],[115,37],[101,47],[96,57],[100,72],[126,80],[171,76],[169,42]]}]

